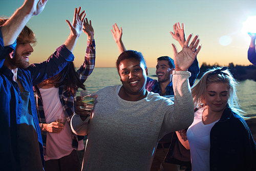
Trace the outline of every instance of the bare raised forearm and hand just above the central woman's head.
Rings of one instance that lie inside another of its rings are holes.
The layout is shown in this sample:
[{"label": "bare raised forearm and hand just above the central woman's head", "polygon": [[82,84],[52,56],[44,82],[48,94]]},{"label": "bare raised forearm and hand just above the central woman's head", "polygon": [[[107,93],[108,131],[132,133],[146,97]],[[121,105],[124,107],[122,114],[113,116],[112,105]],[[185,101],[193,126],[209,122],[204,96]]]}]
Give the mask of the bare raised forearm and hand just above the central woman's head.
[{"label": "bare raised forearm and hand just above the central woman's head", "polygon": [[117,48],[118,48],[118,51],[119,53],[123,53],[124,51],[126,51],[124,45],[123,45],[123,42],[122,42],[122,27],[119,28],[117,27],[116,23],[115,25],[113,25],[113,30],[111,29],[111,33],[113,35],[113,38],[117,44]]}]

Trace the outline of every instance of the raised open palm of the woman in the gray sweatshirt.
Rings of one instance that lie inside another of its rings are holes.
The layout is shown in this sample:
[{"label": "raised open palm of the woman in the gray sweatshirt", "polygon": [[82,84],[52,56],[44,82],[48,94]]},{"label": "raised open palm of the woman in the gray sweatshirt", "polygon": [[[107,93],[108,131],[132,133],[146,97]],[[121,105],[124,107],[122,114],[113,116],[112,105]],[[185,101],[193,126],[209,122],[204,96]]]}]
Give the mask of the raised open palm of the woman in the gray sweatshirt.
[{"label": "raised open palm of the woman in the gray sweatshirt", "polygon": [[174,64],[175,64],[176,71],[187,71],[187,69],[191,66],[198,52],[201,49],[201,45],[199,45],[197,49],[197,46],[199,44],[198,35],[195,36],[195,38],[191,41],[190,45],[188,46],[188,42],[191,36],[192,34],[188,36],[182,48],[182,51],[180,51],[179,53],[177,51],[176,46],[172,44],[173,51],[174,51]]}]

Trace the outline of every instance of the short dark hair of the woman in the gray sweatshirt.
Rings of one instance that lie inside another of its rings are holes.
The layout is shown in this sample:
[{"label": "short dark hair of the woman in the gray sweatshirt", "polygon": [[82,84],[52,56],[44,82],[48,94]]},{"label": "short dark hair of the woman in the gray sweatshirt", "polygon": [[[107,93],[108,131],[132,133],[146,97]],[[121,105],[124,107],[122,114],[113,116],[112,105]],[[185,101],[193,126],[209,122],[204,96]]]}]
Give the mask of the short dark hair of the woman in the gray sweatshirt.
[{"label": "short dark hair of the woman in the gray sweatshirt", "polygon": [[137,51],[134,51],[134,50],[128,50],[128,51],[124,51],[123,53],[121,53],[116,61],[116,69],[119,73],[119,66],[120,66],[120,63],[121,61],[123,61],[124,59],[136,59],[138,61],[140,61],[141,63],[143,63],[145,69],[146,69],[146,61],[142,55],[141,52],[137,52]]}]

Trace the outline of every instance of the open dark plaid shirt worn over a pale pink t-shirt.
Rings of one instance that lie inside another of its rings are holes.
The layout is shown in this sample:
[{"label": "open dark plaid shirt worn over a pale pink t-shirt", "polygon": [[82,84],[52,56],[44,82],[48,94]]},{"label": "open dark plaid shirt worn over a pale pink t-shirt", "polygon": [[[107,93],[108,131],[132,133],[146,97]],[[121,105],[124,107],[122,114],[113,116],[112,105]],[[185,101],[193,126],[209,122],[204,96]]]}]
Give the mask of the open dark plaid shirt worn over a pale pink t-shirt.
[{"label": "open dark plaid shirt worn over a pale pink t-shirt", "polygon": [[[94,65],[95,65],[95,41],[88,40],[87,41],[87,50],[86,56],[84,57],[84,62],[80,69],[77,70],[77,75],[79,76],[82,82],[86,81],[89,75],[93,72]],[[40,91],[37,86],[34,86],[34,95],[35,95],[35,102],[36,102],[36,110],[39,123],[46,123],[45,112],[44,112],[44,105],[42,102],[42,97]],[[72,116],[75,114],[74,103],[75,103],[75,96],[72,96],[71,93],[67,93],[67,90],[64,89],[64,85],[59,87],[59,100],[63,106],[63,111],[65,113],[66,119],[70,125],[70,121]],[[42,141],[44,146],[46,147],[46,135],[47,132],[42,132]],[[77,136],[72,134],[72,147],[78,148],[78,141],[82,140],[84,136]]]}]

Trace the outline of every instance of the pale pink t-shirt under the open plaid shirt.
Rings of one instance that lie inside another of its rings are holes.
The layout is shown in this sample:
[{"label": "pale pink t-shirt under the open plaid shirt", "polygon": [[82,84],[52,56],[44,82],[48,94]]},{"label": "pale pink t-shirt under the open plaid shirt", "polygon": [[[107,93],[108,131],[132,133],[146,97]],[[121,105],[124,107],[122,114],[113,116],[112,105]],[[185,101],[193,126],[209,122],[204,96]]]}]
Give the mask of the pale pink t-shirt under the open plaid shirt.
[{"label": "pale pink t-shirt under the open plaid shirt", "polygon": [[[39,88],[39,91],[44,104],[46,123],[51,123],[53,121],[56,122],[56,116],[65,117],[63,106],[59,100],[59,89],[55,87],[49,89]],[[46,161],[68,156],[71,154],[73,149],[72,130],[67,121],[64,129],[60,133],[47,132]],[[82,149],[83,141],[79,141],[78,150]]]}]

